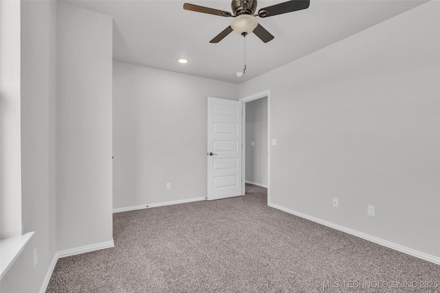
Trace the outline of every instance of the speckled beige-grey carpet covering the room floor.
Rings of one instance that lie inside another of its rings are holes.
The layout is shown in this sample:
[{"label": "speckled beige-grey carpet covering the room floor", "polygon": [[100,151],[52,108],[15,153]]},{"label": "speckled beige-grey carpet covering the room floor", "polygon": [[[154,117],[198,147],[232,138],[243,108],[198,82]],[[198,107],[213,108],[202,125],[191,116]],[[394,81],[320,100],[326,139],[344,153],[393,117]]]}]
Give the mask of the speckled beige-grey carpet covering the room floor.
[{"label": "speckled beige-grey carpet covering the room floor", "polygon": [[59,259],[47,292],[440,292],[440,266],[267,207],[254,185],[115,213],[113,235]]}]

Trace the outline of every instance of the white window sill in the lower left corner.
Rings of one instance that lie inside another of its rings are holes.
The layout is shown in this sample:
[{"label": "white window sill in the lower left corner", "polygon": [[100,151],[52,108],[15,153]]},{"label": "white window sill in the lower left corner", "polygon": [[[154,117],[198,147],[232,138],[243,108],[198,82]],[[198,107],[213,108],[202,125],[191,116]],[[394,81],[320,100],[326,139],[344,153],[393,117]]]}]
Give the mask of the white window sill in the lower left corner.
[{"label": "white window sill in the lower left corner", "polygon": [[17,260],[32,235],[34,232],[0,240],[0,279],[3,279],[12,263]]}]

